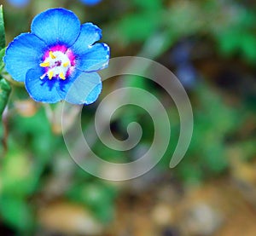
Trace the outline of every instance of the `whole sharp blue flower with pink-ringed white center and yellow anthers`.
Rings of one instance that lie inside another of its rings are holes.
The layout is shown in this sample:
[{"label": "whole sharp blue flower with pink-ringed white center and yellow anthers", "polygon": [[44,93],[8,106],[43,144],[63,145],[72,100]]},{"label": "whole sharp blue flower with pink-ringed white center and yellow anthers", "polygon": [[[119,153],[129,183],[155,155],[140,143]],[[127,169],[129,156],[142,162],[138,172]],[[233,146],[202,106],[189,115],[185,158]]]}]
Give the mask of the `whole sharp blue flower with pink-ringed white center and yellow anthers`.
[{"label": "whole sharp blue flower with pink-ringed white center and yellow anthers", "polygon": [[100,28],[80,25],[72,11],[49,9],[32,20],[30,33],[15,37],[3,60],[35,101],[90,104],[102,91],[96,72],[108,66],[108,45],[95,43],[101,38]]}]

